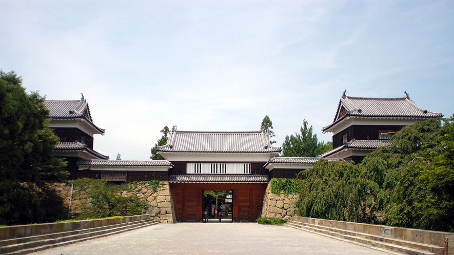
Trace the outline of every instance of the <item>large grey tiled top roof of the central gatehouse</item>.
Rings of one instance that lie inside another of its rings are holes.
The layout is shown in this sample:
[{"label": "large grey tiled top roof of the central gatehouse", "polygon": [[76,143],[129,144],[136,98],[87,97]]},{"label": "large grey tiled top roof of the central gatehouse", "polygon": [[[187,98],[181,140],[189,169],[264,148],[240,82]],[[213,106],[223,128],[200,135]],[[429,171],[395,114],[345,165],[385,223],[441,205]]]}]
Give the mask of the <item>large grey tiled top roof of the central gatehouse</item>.
[{"label": "large grey tiled top roof of the central gatehouse", "polygon": [[200,132],[173,131],[159,152],[196,153],[279,153],[281,147],[270,145],[269,137],[261,131]]}]

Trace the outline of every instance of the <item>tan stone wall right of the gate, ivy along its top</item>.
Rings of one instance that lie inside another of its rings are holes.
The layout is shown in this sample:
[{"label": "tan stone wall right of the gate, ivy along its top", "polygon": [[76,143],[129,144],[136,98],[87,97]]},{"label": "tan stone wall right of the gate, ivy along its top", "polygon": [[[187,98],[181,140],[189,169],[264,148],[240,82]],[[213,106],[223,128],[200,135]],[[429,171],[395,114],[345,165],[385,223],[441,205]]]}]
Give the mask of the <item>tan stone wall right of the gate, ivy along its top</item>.
[{"label": "tan stone wall right of the gate, ivy along its top", "polygon": [[270,183],[266,187],[265,197],[263,198],[262,217],[269,219],[284,219],[291,221],[298,207],[295,204],[298,201],[299,194],[280,195],[272,194]]}]

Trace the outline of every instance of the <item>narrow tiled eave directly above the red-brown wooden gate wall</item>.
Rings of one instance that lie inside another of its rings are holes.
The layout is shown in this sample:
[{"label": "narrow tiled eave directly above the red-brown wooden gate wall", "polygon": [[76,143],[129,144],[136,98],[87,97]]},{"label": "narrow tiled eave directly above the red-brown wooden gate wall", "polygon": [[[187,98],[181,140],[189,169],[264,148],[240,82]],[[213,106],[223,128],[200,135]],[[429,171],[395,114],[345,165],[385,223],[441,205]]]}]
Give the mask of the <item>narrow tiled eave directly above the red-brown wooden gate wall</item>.
[{"label": "narrow tiled eave directly above the red-brown wooden gate wall", "polygon": [[169,182],[186,183],[266,183],[267,175],[169,175]]}]

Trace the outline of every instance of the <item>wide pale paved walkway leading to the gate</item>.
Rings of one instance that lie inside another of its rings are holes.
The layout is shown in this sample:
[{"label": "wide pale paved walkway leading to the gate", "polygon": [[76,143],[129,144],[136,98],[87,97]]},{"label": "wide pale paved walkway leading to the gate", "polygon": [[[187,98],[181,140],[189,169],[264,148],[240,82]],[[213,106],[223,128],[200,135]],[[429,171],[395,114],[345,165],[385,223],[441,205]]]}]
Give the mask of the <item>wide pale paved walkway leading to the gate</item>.
[{"label": "wide pale paved walkway leading to the gate", "polygon": [[290,227],[210,222],[158,224],[33,254],[167,253],[388,254]]}]

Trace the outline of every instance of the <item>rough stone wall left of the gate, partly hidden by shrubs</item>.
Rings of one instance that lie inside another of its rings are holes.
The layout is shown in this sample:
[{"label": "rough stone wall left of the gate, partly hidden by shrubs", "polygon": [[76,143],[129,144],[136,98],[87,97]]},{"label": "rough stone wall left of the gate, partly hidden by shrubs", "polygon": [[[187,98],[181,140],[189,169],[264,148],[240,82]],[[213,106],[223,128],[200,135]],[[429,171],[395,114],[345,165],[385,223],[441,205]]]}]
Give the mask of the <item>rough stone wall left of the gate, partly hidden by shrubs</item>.
[{"label": "rough stone wall left of the gate, partly hidden by shrubs", "polygon": [[[175,219],[175,213],[173,210],[172,199],[170,195],[169,183],[162,182],[163,185],[156,188],[153,192],[152,186],[148,183],[144,184],[132,184],[128,183],[125,185],[125,190],[119,195],[123,197],[137,196],[144,198],[150,204],[147,214],[150,215],[151,219],[154,219],[161,223],[173,223]],[[64,207],[69,208],[69,202],[71,197],[71,182],[65,183],[46,183],[46,185],[53,187],[58,195],[64,200]],[[74,187],[74,191],[75,191]],[[77,195],[73,195],[71,202],[71,215],[81,213],[87,205],[90,204],[89,194],[84,190],[78,192]]]}]

